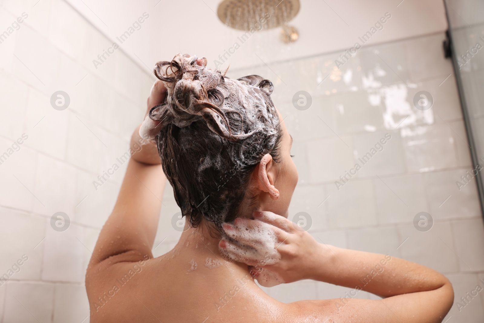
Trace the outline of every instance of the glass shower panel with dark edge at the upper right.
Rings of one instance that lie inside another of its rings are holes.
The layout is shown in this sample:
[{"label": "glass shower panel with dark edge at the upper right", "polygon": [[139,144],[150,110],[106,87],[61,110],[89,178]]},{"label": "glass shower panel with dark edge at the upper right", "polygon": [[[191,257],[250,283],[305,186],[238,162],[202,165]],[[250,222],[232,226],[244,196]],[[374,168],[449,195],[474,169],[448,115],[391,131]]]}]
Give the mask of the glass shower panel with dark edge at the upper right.
[{"label": "glass shower panel with dark edge at the upper right", "polygon": [[[473,170],[460,181],[477,181],[484,205],[484,1],[444,0],[454,71],[472,155]],[[484,214],[484,212],[483,212]]]}]

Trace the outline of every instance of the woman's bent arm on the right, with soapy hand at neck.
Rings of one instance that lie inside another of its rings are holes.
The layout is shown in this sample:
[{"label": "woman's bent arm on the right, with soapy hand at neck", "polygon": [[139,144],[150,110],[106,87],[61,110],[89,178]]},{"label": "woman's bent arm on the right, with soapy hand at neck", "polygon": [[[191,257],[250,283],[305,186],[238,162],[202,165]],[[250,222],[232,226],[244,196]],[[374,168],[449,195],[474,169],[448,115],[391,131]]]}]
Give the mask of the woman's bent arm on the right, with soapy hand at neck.
[{"label": "woman's bent arm on the right, with soapy hand at neck", "polygon": [[[430,268],[389,255],[320,244],[271,212],[255,212],[254,218],[224,224],[227,236],[236,240],[224,239],[220,247],[233,259],[249,264],[256,279],[268,270],[285,282],[314,279],[352,288],[341,299],[296,302],[296,308],[331,313],[333,322],[347,322],[355,314],[360,318],[356,322],[441,322],[452,306],[452,285]],[[254,239],[267,225],[272,225],[277,238],[272,250]],[[271,258],[280,260],[274,263]],[[387,298],[353,299],[361,290]]]}]

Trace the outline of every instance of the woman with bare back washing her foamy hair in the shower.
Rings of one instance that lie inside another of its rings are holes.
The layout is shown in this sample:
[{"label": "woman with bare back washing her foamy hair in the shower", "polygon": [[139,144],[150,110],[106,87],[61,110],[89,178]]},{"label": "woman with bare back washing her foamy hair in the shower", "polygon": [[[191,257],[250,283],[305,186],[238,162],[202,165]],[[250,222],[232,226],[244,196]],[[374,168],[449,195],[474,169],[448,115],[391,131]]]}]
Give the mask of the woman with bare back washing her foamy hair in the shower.
[{"label": "woman with bare back washing her foamy hair in the shower", "polygon": [[[138,149],[87,270],[91,322],[441,322],[454,299],[443,275],[319,244],[287,220],[298,176],[272,83],[205,66],[177,55],[155,67],[160,81],[131,141]],[[153,259],[164,174],[185,231]],[[353,290],[284,304],[253,277],[264,286],[314,279]],[[384,298],[353,298],[360,290]]]}]

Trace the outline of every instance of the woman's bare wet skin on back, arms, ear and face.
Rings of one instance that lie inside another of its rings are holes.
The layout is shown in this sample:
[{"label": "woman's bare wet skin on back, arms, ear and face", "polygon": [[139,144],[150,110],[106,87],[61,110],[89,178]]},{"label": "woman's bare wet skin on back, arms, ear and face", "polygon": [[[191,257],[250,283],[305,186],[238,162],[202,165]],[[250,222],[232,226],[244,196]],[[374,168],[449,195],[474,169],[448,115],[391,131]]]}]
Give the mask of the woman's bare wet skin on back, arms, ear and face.
[{"label": "woman's bare wet skin on back, arms, ear and face", "polygon": [[[163,100],[164,91],[163,84],[155,83],[148,108]],[[87,270],[91,322],[441,322],[454,297],[441,274],[395,257],[323,245],[304,231],[282,230],[290,223],[287,206],[297,183],[284,123],[282,131],[282,162],[265,160],[263,169],[255,169],[249,189],[258,196],[257,204],[244,201],[238,223],[248,230],[255,221],[273,225],[282,244],[277,249],[281,261],[267,268],[286,281],[314,279],[355,288],[378,265],[383,270],[362,287],[385,298],[278,302],[257,286],[248,264],[223,259],[219,250],[225,240],[212,236],[204,222],[185,227],[178,244],[153,259],[166,178],[156,147],[146,144],[129,162]],[[138,139],[136,129],[132,145]],[[272,222],[264,216],[254,219],[253,211],[281,216]],[[162,216],[169,215],[162,210]],[[206,267],[208,258],[220,265]]]}]

